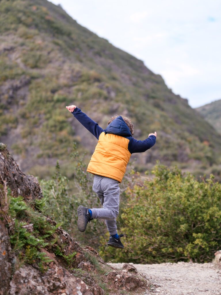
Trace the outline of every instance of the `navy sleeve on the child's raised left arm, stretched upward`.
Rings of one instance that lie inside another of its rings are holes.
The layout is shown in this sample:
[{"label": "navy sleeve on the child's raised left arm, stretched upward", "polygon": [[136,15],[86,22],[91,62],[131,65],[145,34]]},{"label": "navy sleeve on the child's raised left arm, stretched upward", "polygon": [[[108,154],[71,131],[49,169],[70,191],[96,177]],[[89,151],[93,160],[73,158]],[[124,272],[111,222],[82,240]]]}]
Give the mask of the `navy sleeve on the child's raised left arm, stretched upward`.
[{"label": "navy sleeve on the child's raised left arm, stretched upward", "polygon": [[97,139],[99,139],[101,132],[104,130],[98,125],[98,123],[90,119],[78,108],[76,108],[72,114],[88,131],[90,131]]}]

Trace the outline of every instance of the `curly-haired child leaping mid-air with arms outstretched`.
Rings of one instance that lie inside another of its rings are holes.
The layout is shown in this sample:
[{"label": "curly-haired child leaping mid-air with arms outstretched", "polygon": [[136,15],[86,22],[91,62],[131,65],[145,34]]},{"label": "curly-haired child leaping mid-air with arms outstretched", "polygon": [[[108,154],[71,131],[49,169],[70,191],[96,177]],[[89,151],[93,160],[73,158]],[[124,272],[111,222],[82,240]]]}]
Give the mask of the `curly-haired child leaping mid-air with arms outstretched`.
[{"label": "curly-haired child leaping mid-air with arms outstretched", "polygon": [[150,133],[145,140],[136,140],[133,135],[133,124],[122,116],[112,117],[108,127],[102,129],[98,123],[90,119],[76,106],[66,106],[75,118],[97,139],[95,151],[91,157],[87,171],[94,174],[93,191],[97,193],[103,208],[77,208],[77,227],[81,232],[86,230],[91,219],[105,219],[110,239],[108,246],[124,248],[118,235],[116,218],[119,212],[119,196],[123,175],[132,153],[142,153],[156,142],[156,132]]}]

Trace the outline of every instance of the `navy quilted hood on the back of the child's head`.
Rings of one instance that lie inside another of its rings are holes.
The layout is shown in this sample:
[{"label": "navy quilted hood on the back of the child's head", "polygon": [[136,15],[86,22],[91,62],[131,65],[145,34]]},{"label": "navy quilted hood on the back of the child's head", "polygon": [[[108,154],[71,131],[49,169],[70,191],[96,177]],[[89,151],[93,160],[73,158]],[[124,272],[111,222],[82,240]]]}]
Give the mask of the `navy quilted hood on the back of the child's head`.
[{"label": "navy quilted hood on the back of the child's head", "polygon": [[105,132],[121,135],[121,136],[131,136],[131,132],[127,124],[124,122],[121,116],[114,119],[106,128]]}]

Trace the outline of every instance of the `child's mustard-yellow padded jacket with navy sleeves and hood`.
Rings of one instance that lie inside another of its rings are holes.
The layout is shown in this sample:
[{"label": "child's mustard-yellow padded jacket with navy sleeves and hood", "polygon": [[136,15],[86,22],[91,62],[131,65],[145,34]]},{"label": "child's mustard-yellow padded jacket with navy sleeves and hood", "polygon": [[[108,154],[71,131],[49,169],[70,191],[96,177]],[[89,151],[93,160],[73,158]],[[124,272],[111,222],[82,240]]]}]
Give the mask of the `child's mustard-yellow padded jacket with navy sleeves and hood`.
[{"label": "child's mustard-yellow padded jacket with navy sleeves and hood", "polygon": [[150,135],[145,140],[134,139],[121,116],[114,119],[106,129],[102,129],[79,108],[72,113],[98,139],[87,169],[90,173],[121,182],[131,154],[145,152],[156,142],[154,135]]}]

